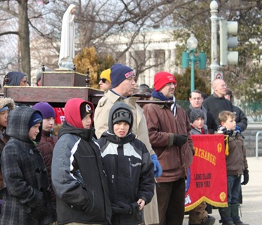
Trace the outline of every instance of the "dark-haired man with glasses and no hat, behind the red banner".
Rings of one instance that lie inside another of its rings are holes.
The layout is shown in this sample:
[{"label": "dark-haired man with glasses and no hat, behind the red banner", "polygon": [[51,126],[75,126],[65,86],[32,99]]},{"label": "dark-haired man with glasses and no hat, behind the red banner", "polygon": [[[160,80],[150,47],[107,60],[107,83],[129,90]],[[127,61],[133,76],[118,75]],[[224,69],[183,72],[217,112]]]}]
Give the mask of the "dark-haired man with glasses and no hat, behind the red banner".
[{"label": "dark-haired man with glasses and no hat, behind the red banner", "polygon": [[214,116],[207,111],[206,108],[202,105],[204,101],[204,97],[202,92],[200,90],[195,89],[190,93],[190,109],[187,110],[187,116],[190,117],[190,111],[192,109],[202,109],[204,112],[204,124],[207,125],[208,131],[210,134],[214,133],[214,131],[217,131],[217,123],[214,120]]}]

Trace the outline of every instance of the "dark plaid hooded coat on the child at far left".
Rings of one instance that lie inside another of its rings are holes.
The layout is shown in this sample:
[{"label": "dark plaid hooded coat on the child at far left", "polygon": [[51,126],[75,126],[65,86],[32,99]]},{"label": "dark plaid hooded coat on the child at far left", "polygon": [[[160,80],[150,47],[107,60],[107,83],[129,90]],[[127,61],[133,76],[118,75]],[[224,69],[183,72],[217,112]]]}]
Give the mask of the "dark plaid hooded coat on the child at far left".
[{"label": "dark plaid hooded coat on the child at far left", "polygon": [[[55,221],[43,158],[28,136],[28,124],[35,111],[21,106],[9,112],[6,133],[10,139],[1,155],[5,192],[0,224],[40,225]],[[42,127],[39,129],[36,142],[40,141]]]}]

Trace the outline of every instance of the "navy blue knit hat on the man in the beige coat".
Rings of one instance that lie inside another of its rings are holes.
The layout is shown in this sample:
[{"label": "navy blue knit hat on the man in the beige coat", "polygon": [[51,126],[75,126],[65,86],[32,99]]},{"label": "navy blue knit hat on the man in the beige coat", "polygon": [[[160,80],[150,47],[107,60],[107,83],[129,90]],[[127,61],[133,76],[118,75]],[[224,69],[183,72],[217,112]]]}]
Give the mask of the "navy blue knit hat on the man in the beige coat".
[{"label": "navy blue knit hat on the man in the beige coat", "polygon": [[114,63],[111,67],[110,73],[112,88],[121,84],[125,79],[134,76],[133,70],[130,67],[120,63]]}]

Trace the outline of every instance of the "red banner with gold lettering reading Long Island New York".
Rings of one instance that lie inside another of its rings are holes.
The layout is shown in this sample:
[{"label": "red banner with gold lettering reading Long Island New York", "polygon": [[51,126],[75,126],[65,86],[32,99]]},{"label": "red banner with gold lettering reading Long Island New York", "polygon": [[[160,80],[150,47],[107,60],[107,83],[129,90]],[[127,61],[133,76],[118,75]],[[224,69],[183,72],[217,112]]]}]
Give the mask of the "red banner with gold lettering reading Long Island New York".
[{"label": "red banner with gold lettering reading Long Island New York", "polygon": [[[185,194],[185,211],[202,201],[227,207],[224,135],[192,135],[195,155],[190,166],[190,186]],[[189,177],[188,177],[189,178]]]}]

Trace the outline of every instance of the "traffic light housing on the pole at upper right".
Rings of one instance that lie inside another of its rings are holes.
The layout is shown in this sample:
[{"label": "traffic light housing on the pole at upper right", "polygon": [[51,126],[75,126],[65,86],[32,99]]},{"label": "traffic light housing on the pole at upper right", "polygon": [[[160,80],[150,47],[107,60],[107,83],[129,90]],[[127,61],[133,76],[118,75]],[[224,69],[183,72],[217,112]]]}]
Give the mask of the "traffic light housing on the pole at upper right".
[{"label": "traffic light housing on the pole at upper right", "polygon": [[219,20],[219,42],[220,42],[220,65],[236,65],[239,60],[237,51],[229,51],[229,48],[236,48],[238,23],[236,21]]}]

